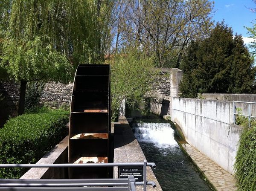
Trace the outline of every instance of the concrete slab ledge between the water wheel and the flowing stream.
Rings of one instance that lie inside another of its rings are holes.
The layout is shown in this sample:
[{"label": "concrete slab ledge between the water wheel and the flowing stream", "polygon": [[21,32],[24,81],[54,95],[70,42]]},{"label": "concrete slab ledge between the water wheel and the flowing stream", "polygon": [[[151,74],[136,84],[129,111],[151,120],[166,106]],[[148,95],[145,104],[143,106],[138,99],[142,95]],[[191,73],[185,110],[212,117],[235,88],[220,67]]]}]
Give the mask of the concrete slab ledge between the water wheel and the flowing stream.
[{"label": "concrete slab ledge between the water wheel and the flowing stream", "polygon": [[[114,147],[114,162],[143,162],[145,159],[145,155],[125,117],[119,117],[119,123],[114,124]],[[114,168],[114,178],[118,178],[117,167]],[[157,188],[148,185],[147,191],[162,191],[151,167],[147,167],[147,180],[154,181],[157,185]],[[136,189],[143,191],[143,186],[136,186]]]}]

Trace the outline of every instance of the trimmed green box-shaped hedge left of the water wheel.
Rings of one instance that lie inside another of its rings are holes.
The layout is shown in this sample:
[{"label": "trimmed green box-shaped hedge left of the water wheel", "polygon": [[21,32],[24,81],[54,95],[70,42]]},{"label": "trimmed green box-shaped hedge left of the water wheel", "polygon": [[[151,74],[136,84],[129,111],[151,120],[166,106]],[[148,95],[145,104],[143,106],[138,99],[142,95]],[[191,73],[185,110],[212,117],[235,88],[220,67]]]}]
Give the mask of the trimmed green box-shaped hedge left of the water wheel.
[{"label": "trimmed green box-shaped hedge left of the water wheel", "polygon": [[[10,119],[0,129],[0,163],[35,163],[67,136],[68,112],[49,110]],[[1,168],[0,178],[19,178],[28,169]]]}]

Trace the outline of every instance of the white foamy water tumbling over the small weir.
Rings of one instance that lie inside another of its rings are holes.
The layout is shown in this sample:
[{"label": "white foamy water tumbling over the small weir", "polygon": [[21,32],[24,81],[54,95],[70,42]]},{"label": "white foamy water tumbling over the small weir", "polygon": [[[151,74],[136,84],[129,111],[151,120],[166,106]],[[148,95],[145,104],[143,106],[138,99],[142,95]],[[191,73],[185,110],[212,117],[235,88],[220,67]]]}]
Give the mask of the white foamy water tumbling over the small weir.
[{"label": "white foamy water tumbling over the small weir", "polygon": [[152,142],[158,148],[177,145],[169,123],[134,123],[134,135],[139,142]]}]

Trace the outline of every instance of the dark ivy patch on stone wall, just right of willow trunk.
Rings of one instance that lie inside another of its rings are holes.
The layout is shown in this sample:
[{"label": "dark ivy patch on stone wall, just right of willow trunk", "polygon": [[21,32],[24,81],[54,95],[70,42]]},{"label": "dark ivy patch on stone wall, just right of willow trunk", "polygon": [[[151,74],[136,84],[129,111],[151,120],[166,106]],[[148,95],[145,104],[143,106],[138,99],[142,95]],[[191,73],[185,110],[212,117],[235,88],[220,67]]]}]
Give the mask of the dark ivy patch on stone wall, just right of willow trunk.
[{"label": "dark ivy patch on stone wall, just right of willow trunk", "polygon": [[43,81],[31,81],[27,85],[25,107],[26,109],[35,107],[39,104],[39,98],[44,90]]}]

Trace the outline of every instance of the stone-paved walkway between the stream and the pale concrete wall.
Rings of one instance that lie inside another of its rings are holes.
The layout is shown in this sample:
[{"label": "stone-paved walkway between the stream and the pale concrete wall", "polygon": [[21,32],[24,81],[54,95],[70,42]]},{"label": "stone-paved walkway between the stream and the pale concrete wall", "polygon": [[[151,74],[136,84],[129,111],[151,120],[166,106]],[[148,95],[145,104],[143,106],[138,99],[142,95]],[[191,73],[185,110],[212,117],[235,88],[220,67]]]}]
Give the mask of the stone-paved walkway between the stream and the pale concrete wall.
[{"label": "stone-paved walkway between the stream and the pale concrete wall", "polygon": [[236,191],[234,177],[194,147],[181,144],[217,191]]}]

